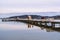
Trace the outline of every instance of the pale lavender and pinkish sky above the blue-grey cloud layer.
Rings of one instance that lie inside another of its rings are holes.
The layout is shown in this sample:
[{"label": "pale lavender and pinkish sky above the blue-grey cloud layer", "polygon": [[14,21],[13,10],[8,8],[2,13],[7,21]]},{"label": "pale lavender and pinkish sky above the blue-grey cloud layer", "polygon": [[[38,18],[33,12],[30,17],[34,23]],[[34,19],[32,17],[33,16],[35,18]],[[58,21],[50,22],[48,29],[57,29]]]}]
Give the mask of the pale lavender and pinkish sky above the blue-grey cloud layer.
[{"label": "pale lavender and pinkish sky above the blue-grey cloud layer", "polygon": [[60,12],[60,0],[0,0],[0,13]]}]

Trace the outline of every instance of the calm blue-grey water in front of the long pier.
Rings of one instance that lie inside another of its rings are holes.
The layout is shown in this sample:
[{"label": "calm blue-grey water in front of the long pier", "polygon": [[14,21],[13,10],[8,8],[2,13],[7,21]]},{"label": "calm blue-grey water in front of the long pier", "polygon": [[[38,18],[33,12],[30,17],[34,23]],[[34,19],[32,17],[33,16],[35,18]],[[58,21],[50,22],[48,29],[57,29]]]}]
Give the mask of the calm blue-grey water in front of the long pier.
[{"label": "calm blue-grey water in front of the long pier", "polygon": [[60,32],[31,24],[0,20],[0,40],[60,40]]}]

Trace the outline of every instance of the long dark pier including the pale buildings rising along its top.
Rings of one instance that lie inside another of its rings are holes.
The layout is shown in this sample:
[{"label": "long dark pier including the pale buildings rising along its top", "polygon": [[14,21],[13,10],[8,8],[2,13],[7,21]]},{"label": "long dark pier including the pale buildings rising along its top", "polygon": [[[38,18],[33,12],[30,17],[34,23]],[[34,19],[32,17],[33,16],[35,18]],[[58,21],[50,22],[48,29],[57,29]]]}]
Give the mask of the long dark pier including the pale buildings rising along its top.
[{"label": "long dark pier including the pale buildings rising along its top", "polygon": [[53,18],[32,19],[31,16],[28,16],[28,18],[26,19],[20,19],[19,17],[17,17],[17,18],[5,18],[2,19],[2,21],[19,21],[19,22],[36,25],[36,26],[41,26],[41,27],[43,26],[46,28],[60,29],[60,21],[57,21],[56,19]]}]

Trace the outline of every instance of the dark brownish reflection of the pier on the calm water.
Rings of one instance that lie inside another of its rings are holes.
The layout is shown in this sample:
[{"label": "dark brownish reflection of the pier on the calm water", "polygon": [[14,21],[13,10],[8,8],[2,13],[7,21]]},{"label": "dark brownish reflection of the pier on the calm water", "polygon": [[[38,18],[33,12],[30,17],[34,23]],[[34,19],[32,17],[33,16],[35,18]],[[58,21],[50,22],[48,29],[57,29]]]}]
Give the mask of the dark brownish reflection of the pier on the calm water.
[{"label": "dark brownish reflection of the pier on the calm water", "polygon": [[[4,22],[4,21],[2,21]],[[14,22],[20,22],[20,21],[14,21]],[[38,27],[40,28],[41,30],[45,30],[46,32],[54,32],[54,31],[57,31],[57,32],[60,32],[60,28],[52,28],[51,26],[44,26],[44,25],[39,25],[40,23],[37,23],[37,22],[25,22],[25,21],[21,21],[22,23],[26,23],[27,24],[27,28],[33,28],[33,27]],[[50,25],[50,24],[49,24]],[[55,26],[60,26],[59,25],[55,25]]]}]

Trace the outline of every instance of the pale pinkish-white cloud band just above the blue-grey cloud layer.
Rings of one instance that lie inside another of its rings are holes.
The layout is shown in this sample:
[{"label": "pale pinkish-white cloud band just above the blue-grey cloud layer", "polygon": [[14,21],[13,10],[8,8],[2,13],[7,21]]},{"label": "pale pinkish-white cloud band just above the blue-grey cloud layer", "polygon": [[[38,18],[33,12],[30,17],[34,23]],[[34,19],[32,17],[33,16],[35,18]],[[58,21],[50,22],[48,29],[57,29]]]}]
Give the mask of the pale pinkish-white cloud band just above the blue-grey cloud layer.
[{"label": "pale pinkish-white cloud band just above the blue-grey cloud layer", "polygon": [[0,13],[17,13],[17,12],[60,12],[60,7],[48,8],[0,8]]}]

